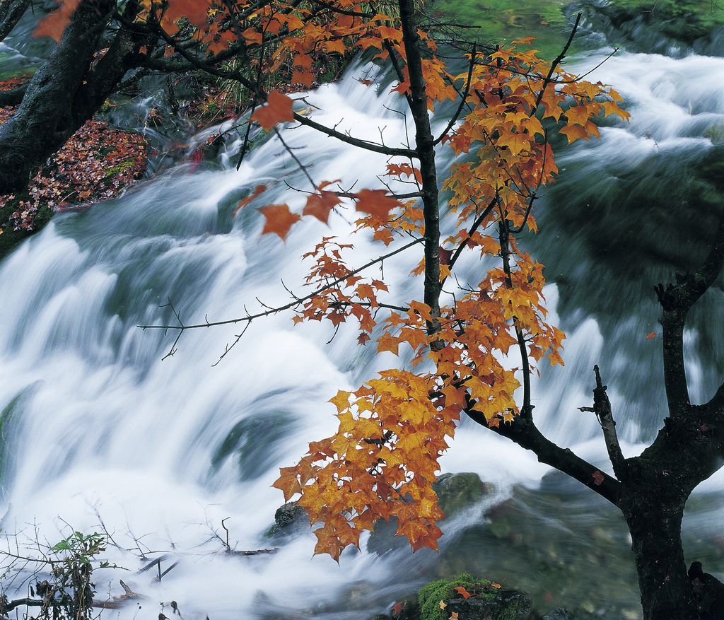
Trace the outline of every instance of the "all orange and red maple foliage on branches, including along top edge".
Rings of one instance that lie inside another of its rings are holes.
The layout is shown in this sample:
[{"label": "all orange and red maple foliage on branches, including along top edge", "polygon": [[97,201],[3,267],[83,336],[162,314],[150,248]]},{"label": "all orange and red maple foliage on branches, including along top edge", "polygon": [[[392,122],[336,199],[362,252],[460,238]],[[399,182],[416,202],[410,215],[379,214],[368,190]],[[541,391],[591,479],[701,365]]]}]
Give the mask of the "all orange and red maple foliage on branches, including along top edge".
[{"label": "all orange and red maple foliage on branches, including along top edge", "polygon": [[[59,1],[65,9],[78,0]],[[312,58],[319,51],[371,52],[374,60],[395,68],[392,91],[411,96],[408,42],[403,41],[400,17],[382,14],[371,0],[140,4],[138,20],[160,23],[171,51],[177,45],[177,20],[184,16],[197,29],[208,59],[228,46],[245,54],[260,51],[257,67],[273,71],[285,64],[292,69],[292,83],[309,86]],[[67,12],[62,10],[39,28],[59,37],[65,23]],[[323,524],[315,531],[315,553],[335,559],[348,545],[359,546],[361,533],[374,529],[379,519],[397,521],[397,533],[410,540],[413,550],[437,548],[442,532],[436,523],[444,515],[431,485],[461,412],[476,411],[490,427],[508,424],[520,414],[514,396],[521,379],[525,382],[534,372],[529,360],[547,357],[551,364],[563,363],[563,333],[546,322],[542,265],[518,248],[515,235],[535,230],[536,193],[557,172],[548,137],[560,133],[569,142],[589,139],[598,136],[596,117],[628,117],[615,91],[552,67],[527,49],[528,40],[484,55],[473,50],[466,70],[455,73],[437,57],[432,38],[421,30],[416,37],[424,48],[427,109],[434,112],[445,102],[458,106],[434,142],[455,156],[442,188],[449,196],[445,219],[451,232],[439,240],[441,298],[448,301],[434,313],[421,301],[395,305],[384,297],[389,295],[384,282],[348,267],[345,257],[353,255],[353,248],[329,237],[306,254],[313,262],[307,283],[314,294],[300,299],[296,308],[295,322],[329,319],[336,326],[356,320],[360,344],[375,340],[377,351],[409,359],[403,369],[382,372],[358,390],[332,398],[340,421],[337,432],[312,442],[306,456],[283,468],[274,483],[286,500],[300,495],[298,502],[311,522]],[[255,67],[249,69],[253,75]],[[264,129],[304,121],[289,96],[271,91],[264,98],[251,115]],[[384,246],[403,241],[405,247],[418,246],[425,240],[426,216],[416,159],[391,156],[385,172],[390,180],[412,183],[417,196],[405,199],[378,188],[345,193],[333,189],[336,181],[311,182],[301,213],[287,204],[258,207],[265,218],[262,233],[284,239],[305,216],[326,223],[346,200],[358,214],[358,232]],[[256,188],[237,211],[262,203],[264,190]],[[463,253],[479,254],[478,281],[458,281],[455,263]],[[426,264],[421,261],[413,275],[429,277]],[[509,356],[511,349],[517,357]]]}]

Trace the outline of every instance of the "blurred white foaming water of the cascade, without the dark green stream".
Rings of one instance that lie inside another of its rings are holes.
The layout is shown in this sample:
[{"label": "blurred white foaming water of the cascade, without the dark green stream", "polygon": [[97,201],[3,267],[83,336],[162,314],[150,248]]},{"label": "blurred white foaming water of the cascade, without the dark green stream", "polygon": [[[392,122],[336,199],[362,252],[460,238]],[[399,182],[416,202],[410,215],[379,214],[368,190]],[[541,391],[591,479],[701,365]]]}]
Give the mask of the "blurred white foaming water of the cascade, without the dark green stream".
[{"label": "blurred white foaming water of the cascade, without the dark green stream", "polygon": [[[669,149],[674,158],[687,149],[706,151],[712,146],[707,130],[724,127],[721,80],[717,86],[706,78],[722,72],[724,60],[699,56],[609,61],[593,78],[617,85],[633,112],[631,125],[603,128],[600,143],[568,149],[560,167],[586,162],[596,178],[612,159],[621,170],[635,169],[651,149]],[[363,138],[382,135],[389,146],[405,143],[395,101],[354,77],[308,95],[314,119],[341,121],[340,129]],[[384,156],[361,154],[303,127],[283,135],[316,183],[340,179],[345,188],[380,187],[376,176],[384,170]],[[235,148],[238,143],[230,142],[222,164]],[[232,219],[237,201],[259,183],[269,186],[264,202]],[[329,229],[306,222],[282,243],[276,235],[260,236],[262,217],[253,209],[279,201],[299,207],[305,194],[290,188],[311,187],[270,137],[259,141],[238,172],[228,164],[195,172],[181,165],[118,200],[59,214],[0,265],[0,407],[9,404],[2,428],[3,531],[18,532],[21,542],[37,535],[53,544],[70,528],[99,531],[102,523],[119,547],[131,550],[109,550],[120,566],[135,571],[144,564],[142,553],[172,556],[162,569],[179,559],[160,584],[151,583],[153,571],[99,573],[98,598],[121,594],[119,578],[150,597],[142,611],[127,611],[129,617],[151,617],[160,609],[157,602],[175,600],[187,620],[287,611],[359,618],[382,611],[436,574],[439,560],[429,550],[378,556],[362,545],[361,553],[343,554],[340,566],[326,556],[312,558],[315,539],[309,532],[290,538],[273,555],[220,553],[227,517],[232,547],[273,545],[264,532],[283,502],[270,487],[279,466],[293,464],[308,441],[333,432],[334,407],[326,401],[336,390],[398,363],[388,354],[374,356],[371,346],[353,344],[353,326],[342,325],[325,344],[333,330],[295,327],[285,314],[253,321],[219,364],[240,324],[185,332],[174,355],[165,358],[174,333],[136,327],[174,324],[169,301],[191,324],[243,317],[260,307],[258,300],[286,303],[282,278],[302,293],[307,267],[300,256]],[[333,214],[332,231],[348,237],[351,219],[351,211]],[[355,264],[379,254],[369,240],[355,237],[354,243]],[[385,261],[384,279],[401,296],[421,294],[421,281],[408,278],[417,259]],[[551,286],[552,311],[557,298]],[[536,382],[536,414],[555,440],[605,467],[595,421],[577,409],[590,404],[592,366],[608,355],[625,367],[643,364],[639,373],[651,374],[659,353],[652,346],[643,362],[623,349],[606,353],[597,320],[576,316],[567,366]],[[641,332],[643,343],[647,331]],[[691,369],[704,383],[715,374],[696,364]],[[642,423],[629,406],[633,388],[610,385],[614,409],[623,411],[626,450],[635,453]],[[701,381],[696,385],[697,393],[710,389]],[[660,402],[660,394],[636,403],[643,401]],[[549,471],[474,424],[461,425],[443,468],[478,472],[499,489],[445,524],[443,551],[466,525],[481,523],[486,508],[508,497],[513,485],[537,487]],[[709,484],[720,490],[720,478]],[[720,514],[720,505],[697,513],[702,532],[714,529]],[[490,561],[496,566],[496,558]],[[634,606],[635,590],[632,583],[626,593]]]}]

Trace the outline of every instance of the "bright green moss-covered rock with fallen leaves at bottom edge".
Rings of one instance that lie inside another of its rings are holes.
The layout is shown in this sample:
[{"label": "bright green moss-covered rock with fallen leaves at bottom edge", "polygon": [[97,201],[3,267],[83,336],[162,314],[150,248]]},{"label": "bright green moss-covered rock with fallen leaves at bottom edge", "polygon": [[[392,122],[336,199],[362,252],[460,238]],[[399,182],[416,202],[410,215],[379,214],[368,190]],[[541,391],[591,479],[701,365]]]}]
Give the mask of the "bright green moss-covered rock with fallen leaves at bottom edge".
[{"label": "bright green moss-covered rock with fallen leaves at bottom edge", "polygon": [[421,620],[447,620],[452,613],[458,620],[525,620],[532,609],[531,598],[523,592],[501,590],[499,585],[467,573],[424,585],[418,600]]}]

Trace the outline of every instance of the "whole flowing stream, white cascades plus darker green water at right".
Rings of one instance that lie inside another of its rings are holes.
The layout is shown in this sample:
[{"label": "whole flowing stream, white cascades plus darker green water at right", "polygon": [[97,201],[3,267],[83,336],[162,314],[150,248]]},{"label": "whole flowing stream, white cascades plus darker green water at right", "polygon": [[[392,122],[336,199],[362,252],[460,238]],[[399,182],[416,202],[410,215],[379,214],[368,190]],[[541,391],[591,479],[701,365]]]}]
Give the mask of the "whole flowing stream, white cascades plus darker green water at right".
[{"label": "whole flowing stream, white cascades plus darker green water at right", "polygon": [[[581,60],[581,71],[601,58],[597,52]],[[621,180],[628,195],[634,187],[646,193],[652,177],[676,181],[672,171],[681,162],[695,165],[720,141],[724,93],[720,84],[700,87],[710,84],[702,75],[723,71],[723,59],[644,54],[621,54],[597,70],[594,79],[623,94],[632,122],[602,128],[600,142],[561,150],[559,188],[544,197],[542,233],[529,241],[557,282],[548,302],[568,329],[567,365],[536,382],[536,414],[554,440],[602,469],[608,468],[597,424],[577,409],[591,402],[592,366],[602,367],[626,450],[635,453],[662,418],[660,350],[645,338],[656,330],[658,314],[652,299],[641,301],[643,293],[633,295],[624,282],[639,278],[644,290],[659,281],[654,275],[666,281],[673,274],[659,260],[634,277],[597,254],[596,244],[623,234],[630,215],[610,196],[621,191]],[[363,136],[377,135],[379,127],[385,143],[403,143],[404,122],[387,88],[377,93],[355,77],[308,95],[315,120],[341,120],[340,127]],[[284,135],[316,183],[341,179],[342,186],[379,187],[384,157],[360,154],[303,127]],[[227,517],[232,547],[274,545],[264,532],[282,503],[270,487],[279,466],[295,462],[308,441],[334,431],[334,408],[326,401],[336,390],[399,363],[351,345],[352,326],[342,325],[332,338],[325,325],[293,327],[283,314],[253,321],[219,364],[242,325],[185,332],[175,348],[174,333],[136,327],[174,324],[174,311],[190,324],[243,317],[258,300],[286,303],[282,279],[295,293],[303,290],[306,266],[299,257],[329,234],[327,227],[300,225],[282,243],[274,235],[260,237],[255,209],[235,219],[232,211],[259,183],[269,187],[266,203],[286,201],[293,209],[304,195],[290,188],[307,189],[308,181],[273,137],[259,138],[238,172],[228,163],[237,148],[230,141],[214,169],[183,164],[115,201],[56,215],[0,265],[2,529],[12,544],[16,535],[20,543],[38,537],[53,544],[70,528],[105,527],[120,548],[132,550],[109,550],[119,566],[135,571],[144,564],[138,556],[159,553],[172,556],[169,566],[180,560],[156,585],[148,573],[98,571],[98,598],[122,593],[119,577],[151,598],[141,611],[124,612],[128,617],[153,616],[156,601],[175,600],[186,619],[360,618],[430,577],[463,570],[505,577],[506,585],[539,595],[541,609],[586,600],[635,617],[633,558],[615,510],[551,474],[531,454],[466,422],[443,469],[478,472],[495,491],[444,524],[439,556],[429,550],[413,556],[408,548],[379,555],[362,545],[361,553],[344,553],[337,566],[326,556],[311,558],[308,532],[270,555],[219,553]],[[589,212],[596,219],[578,215],[576,224],[570,213],[583,204],[594,204]],[[696,219],[681,204],[670,209],[674,222]],[[608,214],[622,227],[606,233]],[[344,238],[350,219],[350,211],[333,215],[332,231]],[[357,264],[378,254],[369,240],[354,243]],[[675,253],[648,238],[639,237],[641,246],[644,256]],[[421,282],[408,279],[416,261],[403,254],[385,262],[391,290],[421,290]],[[610,296],[618,304],[607,305]],[[623,308],[616,313],[616,306]],[[696,323],[689,334],[693,354],[702,353],[713,329]],[[691,361],[693,392],[701,398],[721,375],[713,361],[719,351],[710,353],[701,363]],[[724,569],[724,550],[714,542],[723,506],[706,491],[721,486],[719,475],[704,485],[685,524],[686,553],[708,559],[710,572]],[[594,571],[600,577],[589,586],[585,579]]]}]

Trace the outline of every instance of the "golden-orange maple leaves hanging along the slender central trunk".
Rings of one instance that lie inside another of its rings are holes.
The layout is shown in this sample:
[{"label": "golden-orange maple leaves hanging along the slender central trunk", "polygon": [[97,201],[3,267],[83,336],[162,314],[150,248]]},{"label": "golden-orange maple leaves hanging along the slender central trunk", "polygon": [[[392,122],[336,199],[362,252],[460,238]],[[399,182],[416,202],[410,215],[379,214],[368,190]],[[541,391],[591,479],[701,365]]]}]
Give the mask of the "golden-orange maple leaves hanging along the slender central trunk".
[{"label": "golden-orange maple leaves hanging along the slender central trunk", "polygon": [[[446,74],[432,61],[424,66],[445,76],[447,85],[460,88],[467,79]],[[558,72],[563,84],[547,88],[548,67],[533,51],[492,54],[469,78],[471,109],[440,141],[456,156],[444,184],[450,190],[447,219],[455,227],[439,246],[441,280],[454,277],[463,251],[477,252],[482,264],[494,266],[482,269],[479,282],[450,285],[451,301],[441,304],[439,317],[426,304],[408,301],[406,309],[390,309],[382,321],[376,319],[387,286],[345,264],[342,253],[351,248],[324,238],[307,254],[315,261],[308,281],[319,294],[304,303],[295,321],[338,324],[354,318],[361,344],[375,338],[378,352],[410,359],[405,369],[338,393],[332,399],[340,419],[337,433],[312,442],[297,465],[282,468],[275,486],[287,500],[300,495],[312,523],[324,524],[314,532],[315,553],[337,559],[345,546],[358,546],[361,532],[374,529],[379,519],[397,521],[397,533],[413,550],[436,549],[441,535],[436,522],[444,515],[430,485],[460,413],[473,409],[490,427],[510,423],[520,413],[514,395],[529,372],[529,359],[563,364],[563,332],[546,322],[543,267],[518,248],[514,233],[535,230],[536,191],[557,172],[547,134],[587,139],[598,135],[592,119],[599,114],[627,114],[618,96],[601,84]],[[400,83],[395,90],[405,88]],[[449,88],[435,91],[431,82],[427,91],[431,109],[458,96]],[[387,175],[419,183],[412,164],[390,163]],[[424,238],[418,201],[398,201],[387,213],[371,214],[356,196],[348,197],[361,214],[359,230],[371,230],[383,243]],[[270,224],[274,215],[260,210],[264,232],[278,232]],[[424,267],[423,260],[413,274],[423,275]],[[437,323],[434,333],[431,322]],[[511,349],[523,356],[518,364]]]}]

